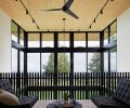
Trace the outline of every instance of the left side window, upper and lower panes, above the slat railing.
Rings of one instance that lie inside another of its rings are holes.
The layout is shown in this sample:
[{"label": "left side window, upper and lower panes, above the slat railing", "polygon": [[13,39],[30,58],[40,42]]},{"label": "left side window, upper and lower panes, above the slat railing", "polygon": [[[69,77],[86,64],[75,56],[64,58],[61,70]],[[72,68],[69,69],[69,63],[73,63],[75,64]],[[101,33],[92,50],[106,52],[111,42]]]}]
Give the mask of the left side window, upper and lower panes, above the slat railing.
[{"label": "left side window, upper and lower panes, above the slat railing", "polygon": [[14,22],[12,32],[12,72],[24,72],[24,38],[25,31]]}]

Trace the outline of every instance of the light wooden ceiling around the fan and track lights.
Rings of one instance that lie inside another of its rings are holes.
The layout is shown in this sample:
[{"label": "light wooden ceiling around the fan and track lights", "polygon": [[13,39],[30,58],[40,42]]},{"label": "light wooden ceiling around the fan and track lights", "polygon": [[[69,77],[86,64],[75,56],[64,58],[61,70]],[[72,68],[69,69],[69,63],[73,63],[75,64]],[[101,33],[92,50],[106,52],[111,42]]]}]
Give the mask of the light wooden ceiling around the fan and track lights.
[{"label": "light wooden ceiling around the fan and track lights", "polygon": [[[90,24],[95,18],[107,0],[74,0],[70,10],[75,12],[79,19],[76,19],[63,11],[47,12],[40,10],[56,9],[64,5],[64,0],[21,0],[41,31],[60,31],[64,28],[63,17],[66,18],[65,30],[88,30]],[[123,11],[130,8],[130,0],[109,0],[103,10],[103,15],[99,15],[92,25],[91,31],[101,31],[114,19],[116,19]],[[2,9],[12,19],[14,19],[26,31],[39,31],[36,24],[20,0],[0,0],[0,9]]]}]

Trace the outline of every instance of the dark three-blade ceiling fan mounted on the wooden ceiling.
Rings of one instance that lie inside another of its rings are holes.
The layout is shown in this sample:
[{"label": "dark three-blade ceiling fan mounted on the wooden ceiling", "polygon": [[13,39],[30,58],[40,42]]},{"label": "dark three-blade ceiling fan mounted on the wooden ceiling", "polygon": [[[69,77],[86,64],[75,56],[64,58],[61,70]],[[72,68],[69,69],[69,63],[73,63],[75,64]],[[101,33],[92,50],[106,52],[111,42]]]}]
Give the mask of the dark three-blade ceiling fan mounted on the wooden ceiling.
[{"label": "dark three-blade ceiling fan mounted on the wooden ceiling", "polygon": [[67,13],[68,15],[75,17],[75,18],[79,18],[73,11],[69,10],[70,5],[73,4],[74,0],[68,0],[63,8],[61,9],[49,9],[49,10],[41,10],[41,11],[63,11],[65,13]]}]

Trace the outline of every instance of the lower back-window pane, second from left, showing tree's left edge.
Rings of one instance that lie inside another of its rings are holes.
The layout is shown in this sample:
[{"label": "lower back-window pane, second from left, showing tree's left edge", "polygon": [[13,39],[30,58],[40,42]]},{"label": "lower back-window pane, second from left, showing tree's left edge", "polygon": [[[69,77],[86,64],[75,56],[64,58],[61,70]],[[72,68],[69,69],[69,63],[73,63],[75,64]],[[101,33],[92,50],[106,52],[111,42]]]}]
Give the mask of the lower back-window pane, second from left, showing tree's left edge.
[{"label": "lower back-window pane, second from left, showing tree's left edge", "polygon": [[41,54],[41,72],[54,72],[54,54]]}]

